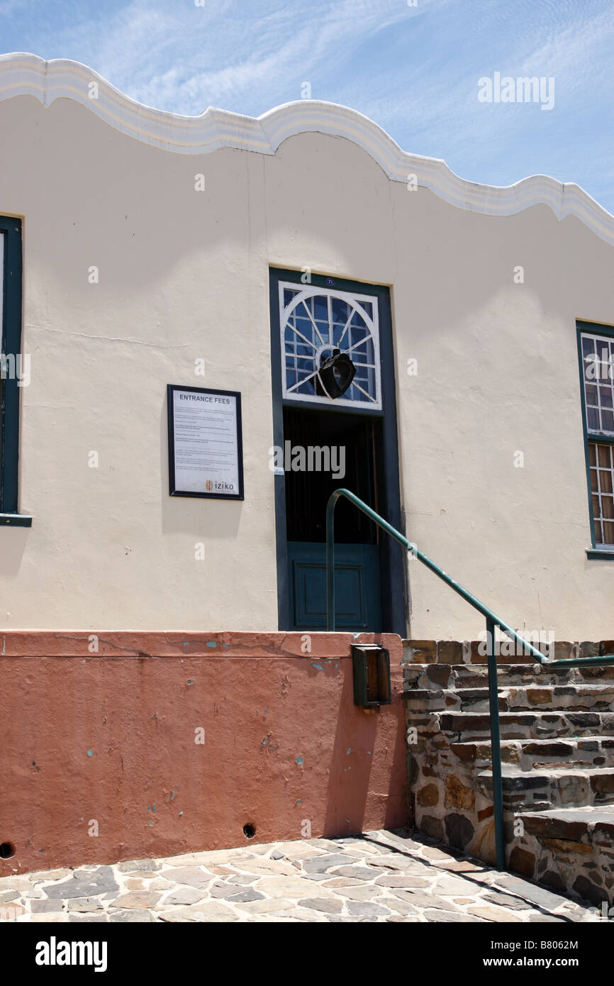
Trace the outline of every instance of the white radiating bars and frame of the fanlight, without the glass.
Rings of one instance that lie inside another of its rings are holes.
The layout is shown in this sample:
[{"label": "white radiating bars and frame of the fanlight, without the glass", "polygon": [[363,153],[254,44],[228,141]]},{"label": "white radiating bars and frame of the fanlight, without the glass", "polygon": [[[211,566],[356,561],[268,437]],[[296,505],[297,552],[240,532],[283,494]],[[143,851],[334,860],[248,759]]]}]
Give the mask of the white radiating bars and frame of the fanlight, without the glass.
[{"label": "white radiating bars and frame of the fanlight, without the glass", "polygon": [[[296,292],[293,298],[290,300],[288,305],[284,305],[284,291],[290,290]],[[286,349],[286,328],[289,324],[289,319],[293,316],[296,309],[304,302],[308,301],[309,298],[327,298],[327,334],[322,334],[323,322],[321,319],[313,319],[311,314],[308,312],[307,306],[304,306],[304,311],[307,311],[307,318],[311,322],[311,338],[302,333],[296,325],[290,325],[291,329],[295,332],[297,336],[298,345],[304,349],[304,352],[298,353],[297,348],[295,348],[294,353],[288,353]],[[344,349],[343,346],[338,346],[334,343],[331,338],[333,319],[332,319],[332,299],[339,299],[345,302],[347,305],[351,306],[350,317],[347,319],[346,328],[349,326],[351,318],[354,313],[357,312],[360,317],[365,322],[365,327],[368,330],[368,335],[353,344],[349,348]],[[373,316],[369,315],[366,311],[365,305],[371,307]],[[367,407],[371,410],[381,410],[381,374],[380,374],[380,363],[379,363],[379,318],[377,311],[377,298],[375,295],[362,295],[356,294],[351,291],[342,291],[334,288],[318,288],[313,285],[306,285],[305,287],[296,284],[292,281],[280,281],[279,284],[279,308],[280,308],[280,345],[281,345],[281,356],[282,356],[282,393],[283,397],[287,400],[300,400],[306,401],[307,403],[315,404],[328,404],[337,405],[342,407]],[[317,322],[320,322],[319,326]],[[315,341],[314,341],[315,340]],[[371,341],[373,344],[374,361],[373,363],[359,363],[356,362],[356,366],[367,370],[366,381],[363,377],[357,373],[354,378],[354,382],[350,387],[350,390],[356,388],[361,394],[360,397],[356,399],[351,399],[346,396],[338,397],[336,400],[331,400],[330,397],[319,395],[316,393],[299,393],[297,392],[297,387],[301,387],[307,383],[307,380],[312,379],[315,376],[317,367],[319,365],[319,356],[323,349],[332,349],[333,345],[340,348],[342,352],[349,353],[352,357],[352,350],[357,349],[359,346],[366,342]],[[311,355],[312,353],[312,355]],[[294,360],[294,367],[291,368],[291,372],[298,374],[299,361],[301,365],[307,364],[309,374],[307,378],[296,383],[294,382],[291,387],[288,386],[288,360]],[[373,381],[373,387],[368,383],[369,381],[369,371],[371,371],[371,379]],[[367,389],[363,386],[367,385]],[[372,392],[370,392],[370,389]]]}]

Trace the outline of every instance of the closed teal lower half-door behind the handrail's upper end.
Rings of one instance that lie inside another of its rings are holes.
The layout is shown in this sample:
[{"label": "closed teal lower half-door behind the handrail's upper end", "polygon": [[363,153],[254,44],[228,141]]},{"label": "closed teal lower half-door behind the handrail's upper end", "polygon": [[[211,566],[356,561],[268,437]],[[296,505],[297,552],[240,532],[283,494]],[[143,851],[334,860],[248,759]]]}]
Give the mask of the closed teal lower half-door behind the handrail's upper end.
[{"label": "closed teal lower half-door behind the handrail's upper end", "polygon": [[[292,619],[296,630],[325,630],[325,545],[288,542]],[[335,609],[338,630],[381,629],[379,548],[339,544],[335,548]]]}]

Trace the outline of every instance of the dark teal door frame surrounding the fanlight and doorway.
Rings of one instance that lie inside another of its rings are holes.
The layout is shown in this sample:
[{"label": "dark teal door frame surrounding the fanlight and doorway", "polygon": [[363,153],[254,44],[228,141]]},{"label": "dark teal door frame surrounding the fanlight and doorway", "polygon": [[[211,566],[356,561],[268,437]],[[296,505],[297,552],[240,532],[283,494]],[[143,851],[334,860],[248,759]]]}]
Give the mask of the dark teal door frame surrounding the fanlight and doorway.
[{"label": "dark teal door frame surrounding the fanlight and doorway", "polygon": [[[303,284],[304,274],[300,270],[283,267],[269,267],[269,307],[271,323],[271,375],[273,397],[273,444],[284,447],[284,403],[296,408],[313,410],[312,402],[282,398],[282,360],[279,324],[279,282],[290,281]],[[330,281],[332,280],[332,284]],[[328,282],[328,283],[327,283]],[[362,417],[381,418],[382,459],[384,463],[381,512],[393,528],[401,529],[401,500],[399,482],[399,446],[396,412],[396,386],[394,375],[394,351],[392,341],[392,316],[390,308],[390,289],[385,285],[369,284],[364,281],[350,281],[325,274],[310,274],[311,286],[316,288],[338,288],[374,295],[377,299],[379,317],[379,357],[381,364],[381,410],[366,411],[365,407],[335,408],[338,413],[360,414]],[[323,405],[321,405],[323,406]],[[286,477],[275,475],[275,539],[277,554],[277,610],[278,629],[290,630],[290,573],[288,566],[288,546],[286,537]],[[379,542],[380,550],[380,591],[382,625],[392,633],[405,636],[405,558],[401,545],[391,537],[383,536]]]}]

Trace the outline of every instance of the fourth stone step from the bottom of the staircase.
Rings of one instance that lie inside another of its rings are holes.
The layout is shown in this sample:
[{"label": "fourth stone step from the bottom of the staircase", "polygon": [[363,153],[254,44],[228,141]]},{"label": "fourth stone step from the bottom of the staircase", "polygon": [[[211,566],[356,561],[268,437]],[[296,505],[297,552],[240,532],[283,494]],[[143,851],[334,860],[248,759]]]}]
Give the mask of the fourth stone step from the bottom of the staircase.
[{"label": "fourth stone step from the bottom of the staircase", "polygon": [[[611,712],[502,712],[499,720],[504,740],[546,740],[594,734],[614,736],[614,713]],[[412,725],[411,715],[408,725]],[[456,741],[490,739],[488,713],[442,712],[439,726]]]}]

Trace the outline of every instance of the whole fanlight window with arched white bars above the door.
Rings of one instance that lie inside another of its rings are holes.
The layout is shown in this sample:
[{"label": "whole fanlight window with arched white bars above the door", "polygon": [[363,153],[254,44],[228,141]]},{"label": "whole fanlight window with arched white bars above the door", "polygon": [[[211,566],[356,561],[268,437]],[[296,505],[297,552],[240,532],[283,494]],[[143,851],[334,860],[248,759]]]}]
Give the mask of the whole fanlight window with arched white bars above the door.
[{"label": "whole fanlight window with arched white bars above the door", "polygon": [[279,290],[284,398],[379,410],[377,299],[288,282]]}]

